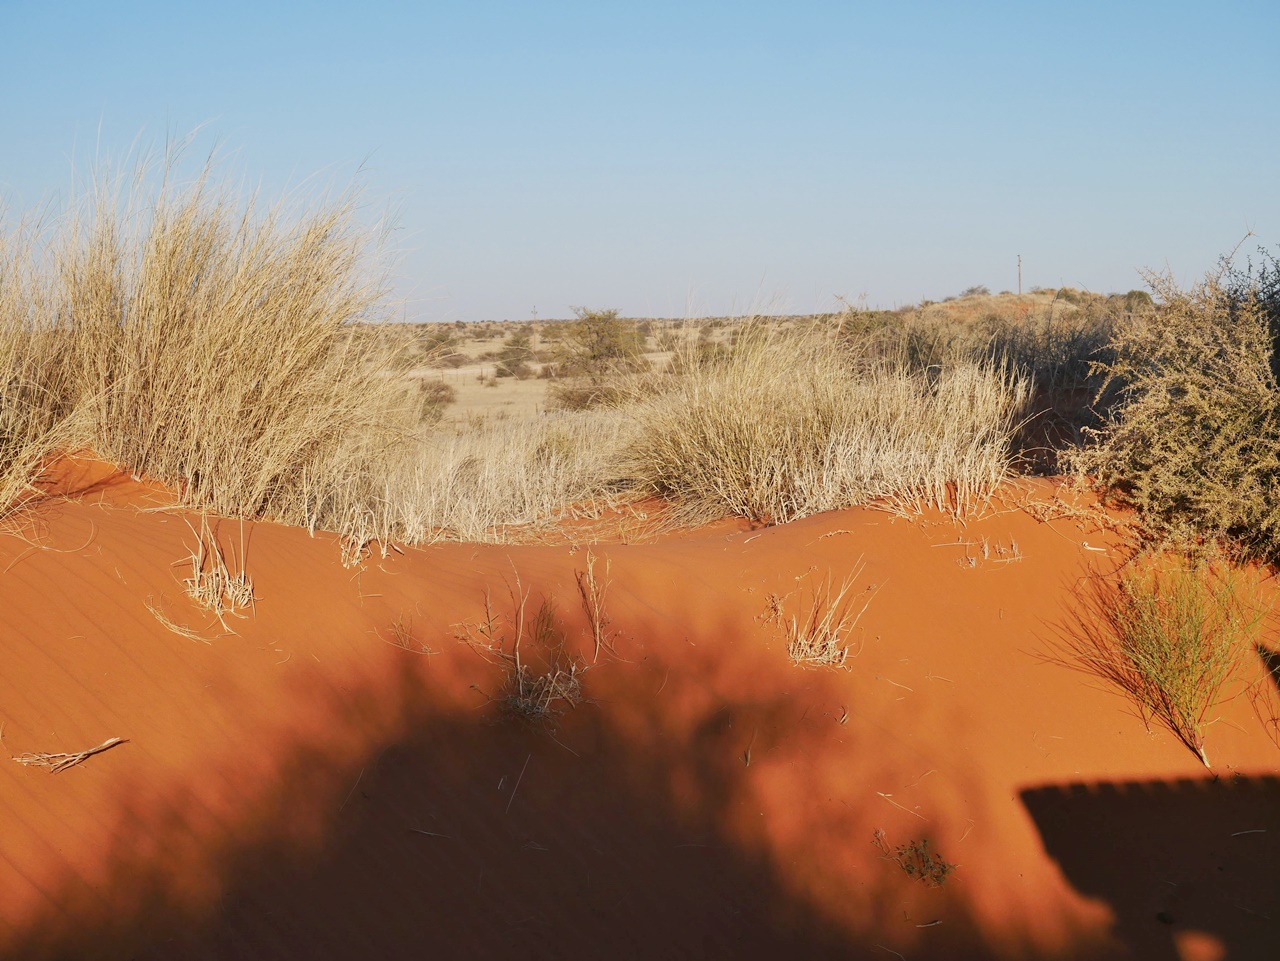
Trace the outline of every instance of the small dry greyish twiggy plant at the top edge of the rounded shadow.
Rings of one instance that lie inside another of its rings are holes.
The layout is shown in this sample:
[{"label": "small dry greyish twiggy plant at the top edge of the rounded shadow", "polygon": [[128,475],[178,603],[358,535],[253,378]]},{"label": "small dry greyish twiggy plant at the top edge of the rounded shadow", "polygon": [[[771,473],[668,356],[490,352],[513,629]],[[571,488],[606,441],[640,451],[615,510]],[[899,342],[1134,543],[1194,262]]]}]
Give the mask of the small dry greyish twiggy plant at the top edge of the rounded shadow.
[{"label": "small dry greyish twiggy plant at the top edge of the rounded shadow", "polygon": [[[508,584],[512,613],[500,617],[485,591],[484,619],[458,626],[458,639],[504,668],[502,692],[495,699],[508,714],[526,720],[549,720],[582,703],[586,664],[564,651],[564,635],[556,623],[556,605],[544,599],[532,617],[526,617],[529,591]],[[535,668],[521,646],[529,642],[541,667]]]}]

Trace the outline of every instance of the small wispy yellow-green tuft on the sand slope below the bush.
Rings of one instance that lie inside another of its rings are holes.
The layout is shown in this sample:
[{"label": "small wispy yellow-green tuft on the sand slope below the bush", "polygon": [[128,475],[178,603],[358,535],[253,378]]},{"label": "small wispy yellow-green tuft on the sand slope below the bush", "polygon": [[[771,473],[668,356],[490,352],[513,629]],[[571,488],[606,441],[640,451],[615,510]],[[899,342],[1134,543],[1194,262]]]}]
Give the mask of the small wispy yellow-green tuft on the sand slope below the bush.
[{"label": "small wispy yellow-green tuft on the sand slope below the bush", "polygon": [[1074,665],[1119,687],[1143,722],[1171,731],[1204,766],[1204,726],[1253,653],[1263,604],[1254,575],[1194,560],[1135,562],[1091,582],[1069,627]]}]

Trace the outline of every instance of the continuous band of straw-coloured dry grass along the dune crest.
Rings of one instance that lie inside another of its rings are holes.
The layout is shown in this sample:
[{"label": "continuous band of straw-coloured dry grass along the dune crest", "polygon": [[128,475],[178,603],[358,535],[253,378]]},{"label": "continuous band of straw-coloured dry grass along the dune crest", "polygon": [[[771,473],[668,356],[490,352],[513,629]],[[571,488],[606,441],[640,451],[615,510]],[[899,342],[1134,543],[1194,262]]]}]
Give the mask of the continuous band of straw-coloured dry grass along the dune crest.
[{"label": "continuous band of straw-coloured dry grass along the dune crest", "polygon": [[88,448],[204,511],[371,541],[503,540],[582,502],[659,494],[686,521],[881,500],[965,511],[1010,467],[1023,377],[859,360],[744,329],[609,409],[422,427],[370,335],[387,294],[352,193],[242,201],[170,159],[0,234],[0,511]]}]

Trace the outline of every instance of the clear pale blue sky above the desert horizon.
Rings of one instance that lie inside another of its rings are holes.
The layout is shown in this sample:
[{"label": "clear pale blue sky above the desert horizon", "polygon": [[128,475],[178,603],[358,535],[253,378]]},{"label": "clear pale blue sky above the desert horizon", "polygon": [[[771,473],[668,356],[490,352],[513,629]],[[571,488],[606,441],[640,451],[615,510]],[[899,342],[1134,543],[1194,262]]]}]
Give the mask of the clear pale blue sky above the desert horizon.
[{"label": "clear pale blue sky above the desert horizon", "polygon": [[0,0],[0,207],[202,125],[415,320],[1194,280],[1280,243],[1280,3]]}]

